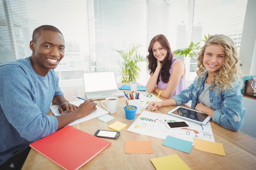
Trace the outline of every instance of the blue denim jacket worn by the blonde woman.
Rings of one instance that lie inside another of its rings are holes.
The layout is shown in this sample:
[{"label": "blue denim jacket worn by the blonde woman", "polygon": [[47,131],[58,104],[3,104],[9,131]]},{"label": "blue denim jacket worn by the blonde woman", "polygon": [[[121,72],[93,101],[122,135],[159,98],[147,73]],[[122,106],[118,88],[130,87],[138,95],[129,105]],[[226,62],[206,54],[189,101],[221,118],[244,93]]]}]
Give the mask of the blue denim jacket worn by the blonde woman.
[{"label": "blue denim jacket worn by the blonde woman", "polygon": [[[177,105],[186,104],[192,100],[191,107],[199,103],[198,96],[204,90],[204,83],[208,73],[195,78],[193,84],[187,87],[179,95],[171,97],[175,99]],[[214,110],[212,120],[221,126],[238,131],[244,122],[245,108],[243,108],[243,95],[240,90],[242,87],[239,78],[232,84],[234,88],[229,88],[227,91],[223,90],[222,93],[215,91],[212,87],[209,89],[209,97],[211,107]]]}]

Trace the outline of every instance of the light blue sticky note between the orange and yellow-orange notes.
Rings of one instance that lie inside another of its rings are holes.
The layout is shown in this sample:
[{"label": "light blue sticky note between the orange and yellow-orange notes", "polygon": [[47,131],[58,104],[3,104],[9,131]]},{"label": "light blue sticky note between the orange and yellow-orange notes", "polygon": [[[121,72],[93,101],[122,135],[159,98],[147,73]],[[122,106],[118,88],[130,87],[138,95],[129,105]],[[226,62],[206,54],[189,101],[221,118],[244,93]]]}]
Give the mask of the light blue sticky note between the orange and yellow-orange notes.
[{"label": "light blue sticky note between the orange and yellow-orange notes", "polygon": [[164,146],[168,146],[169,148],[180,150],[186,153],[190,153],[192,144],[193,142],[191,141],[185,141],[183,139],[178,139],[169,135],[167,135],[167,137],[164,139],[164,142],[162,143]]}]

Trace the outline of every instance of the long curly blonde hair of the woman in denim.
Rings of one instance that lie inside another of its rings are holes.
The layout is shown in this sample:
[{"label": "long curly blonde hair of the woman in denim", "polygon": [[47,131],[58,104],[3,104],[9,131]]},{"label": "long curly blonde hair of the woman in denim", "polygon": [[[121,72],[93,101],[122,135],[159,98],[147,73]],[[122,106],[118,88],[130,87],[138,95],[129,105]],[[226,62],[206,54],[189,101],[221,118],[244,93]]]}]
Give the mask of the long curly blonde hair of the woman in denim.
[{"label": "long curly blonde hair of the woman in denim", "polygon": [[206,74],[206,68],[203,65],[204,52],[206,47],[211,46],[212,44],[218,44],[221,46],[226,54],[222,68],[220,68],[218,73],[213,77],[212,88],[214,90],[220,89],[220,92],[227,91],[229,88],[233,88],[232,83],[237,81],[237,76],[243,84],[243,75],[240,69],[240,60],[238,57],[239,54],[236,50],[234,41],[227,35],[222,34],[216,34],[208,38],[201,51],[198,53],[198,71],[196,72],[198,78],[200,75]]}]

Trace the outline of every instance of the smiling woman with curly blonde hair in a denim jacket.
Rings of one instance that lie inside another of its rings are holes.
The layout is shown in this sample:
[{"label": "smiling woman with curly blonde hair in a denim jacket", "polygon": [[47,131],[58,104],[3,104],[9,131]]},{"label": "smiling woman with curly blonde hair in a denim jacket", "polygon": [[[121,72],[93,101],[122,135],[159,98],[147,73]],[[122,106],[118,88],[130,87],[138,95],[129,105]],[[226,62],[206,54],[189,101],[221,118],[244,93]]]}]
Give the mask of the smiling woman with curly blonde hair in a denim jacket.
[{"label": "smiling woman with curly blonde hair in a denim jacket", "polygon": [[163,106],[186,104],[212,117],[221,126],[238,131],[243,125],[245,108],[240,62],[234,41],[226,35],[211,36],[198,54],[197,77],[179,95],[162,102],[150,102],[157,110]]}]

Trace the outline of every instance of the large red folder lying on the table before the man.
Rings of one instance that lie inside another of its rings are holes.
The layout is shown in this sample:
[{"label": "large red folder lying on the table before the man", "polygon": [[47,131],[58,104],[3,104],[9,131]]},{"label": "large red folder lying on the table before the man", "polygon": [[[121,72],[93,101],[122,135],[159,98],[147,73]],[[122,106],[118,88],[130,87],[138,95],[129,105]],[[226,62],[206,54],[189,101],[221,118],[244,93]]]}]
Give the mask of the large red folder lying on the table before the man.
[{"label": "large red folder lying on the table before the man", "polygon": [[65,170],[77,170],[110,144],[109,141],[72,126],[65,126],[52,135],[31,143],[30,147]]}]

